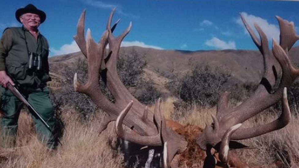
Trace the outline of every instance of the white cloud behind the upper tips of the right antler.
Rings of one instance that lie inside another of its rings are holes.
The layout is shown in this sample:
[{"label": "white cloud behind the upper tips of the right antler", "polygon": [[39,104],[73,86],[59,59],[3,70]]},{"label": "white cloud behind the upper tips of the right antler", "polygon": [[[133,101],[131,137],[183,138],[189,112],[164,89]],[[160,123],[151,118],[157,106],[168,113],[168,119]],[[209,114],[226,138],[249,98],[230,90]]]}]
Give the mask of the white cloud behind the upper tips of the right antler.
[{"label": "white cloud behind the upper tips of the right antler", "polygon": [[[262,28],[263,32],[267,35],[267,38],[270,41],[272,41],[272,38],[274,38],[276,41],[279,41],[279,27],[275,24],[268,23],[267,20],[256,17],[254,15],[248,15],[246,12],[241,13],[244,17],[244,19],[247,21],[247,23],[250,25],[250,27],[254,30],[257,37],[259,37],[257,31],[254,28],[254,23],[258,24],[260,28]],[[243,26],[244,32],[248,34],[248,31],[246,30],[242,20],[239,18],[236,21],[237,24]]]}]

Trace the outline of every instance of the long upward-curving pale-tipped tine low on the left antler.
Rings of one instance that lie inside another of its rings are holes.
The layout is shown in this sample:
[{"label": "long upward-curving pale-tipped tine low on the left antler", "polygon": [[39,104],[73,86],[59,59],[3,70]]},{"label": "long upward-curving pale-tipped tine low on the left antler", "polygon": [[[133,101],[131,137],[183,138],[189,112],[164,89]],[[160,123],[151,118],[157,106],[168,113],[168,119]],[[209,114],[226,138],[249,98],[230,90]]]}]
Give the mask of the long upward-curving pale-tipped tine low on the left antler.
[{"label": "long upward-curving pale-tipped tine low on the left antler", "polygon": [[133,101],[131,101],[125,109],[123,109],[122,112],[120,112],[119,116],[116,119],[115,123],[115,131],[116,134],[120,137],[123,138],[124,140],[128,140],[130,142],[134,142],[136,144],[142,144],[142,145],[149,145],[149,146],[161,146],[161,137],[160,133],[158,133],[155,136],[141,136],[139,134],[132,134],[128,133],[123,130],[123,121],[127,113],[130,111],[131,107],[133,105]]}]

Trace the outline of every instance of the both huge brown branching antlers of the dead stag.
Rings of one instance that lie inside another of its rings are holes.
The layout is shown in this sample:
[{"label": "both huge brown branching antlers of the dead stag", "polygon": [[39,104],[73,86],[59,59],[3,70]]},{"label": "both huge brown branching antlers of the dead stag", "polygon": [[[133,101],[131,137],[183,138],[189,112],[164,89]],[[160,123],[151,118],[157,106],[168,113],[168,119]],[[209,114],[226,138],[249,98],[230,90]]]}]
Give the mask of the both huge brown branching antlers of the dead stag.
[{"label": "both huge brown branching antlers of the dead stag", "polygon": [[[99,132],[102,132],[111,121],[116,121],[115,129],[119,137],[145,146],[164,147],[163,165],[165,168],[178,167],[180,155],[188,151],[190,142],[183,133],[176,129],[169,128],[165,118],[161,115],[160,101],[157,101],[154,111],[145,110],[146,107],[140,103],[118,77],[116,63],[120,44],[123,38],[130,32],[131,23],[119,36],[113,36],[112,32],[119,20],[111,26],[111,12],[107,28],[104,31],[100,42],[95,43],[91,37],[90,30],[87,31],[87,39],[84,37],[85,11],[81,14],[75,41],[88,62],[88,81],[82,84],[74,76],[74,88],[76,91],[88,95],[97,106],[107,113],[103,123],[100,123]],[[246,147],[235,140],[248,139],[271,131],[283,128],[289,123],[290,110],[287,101],[286,88],[289,88],[299,74],[288,57],[288,51],[299,39],[292,22],[277,17],[280,25],[280,43],[273,40],[272,50],[268,48],[268,40],[262,29],[255,24],[260,40],[255,36],[252,29],[241,16],[254,43],[263,55],[264,74],[256,91],[242,104],[235,108],[228,107],[229,92],[221,96],[216,116],[212,116],[213,123],[193,136],[195,145],[205,151],[204,167],[215,167],[216,163],[222,165],[235,164],[235,167],[248,166],[239,161],[237,156],[230,154],[229,148]],[[109,47],[107,45],[109,44]],[[100,76],[99,76],[100,73]],[[278,76],[281,75],[281,80]],[[115,102],[110,102],[100,90],[100,77],[106,82]],[[278,85],[273,89],[274,85]],[[238,129],[240,125],[262,112],[263,110],[282,100],[281,116],[268,124],[258,127]],[[134,102],[134,103],[133,103]],[[128,133],[123,130],[123,125],[132,129],[135,133]],[[184,132],[184,131],[183,131]],[[215,149],[219,152],[218,161],[214,158]],[[229,159],[229,156],[233,157]],[[237,160],[237,161],[236,161]],[[245,166],[244,166],[245,165]]]}]

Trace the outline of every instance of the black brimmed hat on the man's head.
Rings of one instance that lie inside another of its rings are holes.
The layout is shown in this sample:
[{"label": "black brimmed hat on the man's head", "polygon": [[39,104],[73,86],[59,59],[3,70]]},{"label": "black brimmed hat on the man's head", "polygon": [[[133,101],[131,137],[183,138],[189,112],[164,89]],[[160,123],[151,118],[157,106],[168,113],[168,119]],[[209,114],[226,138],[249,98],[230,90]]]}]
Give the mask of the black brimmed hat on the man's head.
[{"label": "black brimmed hat on the man's head", "polygon": [[40,23],[43,23],[46,20],[46,13],[44,11],[37,9],[34,5],[28,4],[25,6],[25,8],[20,8],[16,11],[16,19],[17,21],[20,21],[20,16],[24,13],[35,13],[38,16],[40,16]]}]

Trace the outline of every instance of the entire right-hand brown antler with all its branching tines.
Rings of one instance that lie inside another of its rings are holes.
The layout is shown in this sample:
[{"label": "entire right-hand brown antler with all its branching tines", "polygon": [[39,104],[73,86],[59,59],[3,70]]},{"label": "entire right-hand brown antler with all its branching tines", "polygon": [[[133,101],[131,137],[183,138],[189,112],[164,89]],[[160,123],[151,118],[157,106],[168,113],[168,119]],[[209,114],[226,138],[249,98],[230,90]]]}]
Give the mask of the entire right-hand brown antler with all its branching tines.
[{"label": "entire right-hand brown antler with all its branching tines", "polygon": [[[255,36],[249,24],[241,15],[241,19],[252,37],[253,42],[259,48],[263,55],[264,74],[263,78],[255,90],[255,92],[242,104],[231,109],[228,107],[229,92],[222,94],[217,107],[216,117],[213,117],[214,123],[206,126],[203,133],[197,138],[197,143],[202,149],[206,149],[207,145],[213,147],[221,143],[221,150],[224,151],[224,146],[228,145],[229,140],[224,141],[224,135],[233,125],[243,123],[249,118],[269,108],[270,106],[282,100],[283,110],[281,116],[268,124],[259,125],[247,129],[238,129],[230,136],[231,140],[241,140],[259,136],[271,131],[281,129],[290,121],[290,110],[286,96],[286,88],[290,87],[293,81],[299,75],[299,69],[295,69],[288,57],[288,51],[293,44],[299,39],[295,32],[292,22],[276,17],[280,25],[280,45],[273,39],[272,52],[268,48],[268,40],[262,29],[254,24],[255,29],[259,33],[260,41]],[[278,75],[282,75],[281,80],[278,80]],[[274,86],[278,87],[274,90]],[[222,152],[223,162],[226,162],[225,154]]]}]

